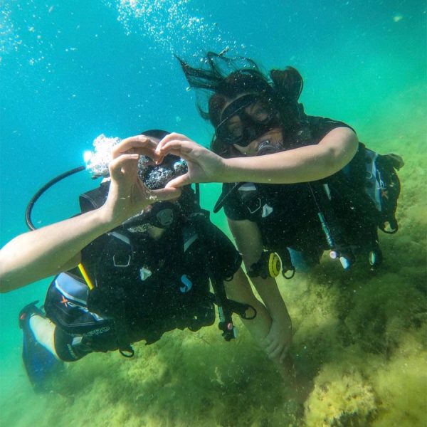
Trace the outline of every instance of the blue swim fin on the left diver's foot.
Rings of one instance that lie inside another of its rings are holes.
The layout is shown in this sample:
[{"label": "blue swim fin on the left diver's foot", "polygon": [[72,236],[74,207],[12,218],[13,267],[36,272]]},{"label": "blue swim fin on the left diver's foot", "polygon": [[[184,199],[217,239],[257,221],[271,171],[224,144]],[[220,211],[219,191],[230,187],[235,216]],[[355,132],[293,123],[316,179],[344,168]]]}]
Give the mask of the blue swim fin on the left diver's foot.
[{"label": "blue swim fin on the left diver's foot", "polygon": [[36,340],[31,330],[31,316],[45,317],[44,313],[36,306],[37,302],[31,302],[19,312],[19,327],[23,332],[22,359],[34,390],[47,391],[46,381],[48,377],[54,371],[58,371],[63,363],[58,361],[48,349]]}]

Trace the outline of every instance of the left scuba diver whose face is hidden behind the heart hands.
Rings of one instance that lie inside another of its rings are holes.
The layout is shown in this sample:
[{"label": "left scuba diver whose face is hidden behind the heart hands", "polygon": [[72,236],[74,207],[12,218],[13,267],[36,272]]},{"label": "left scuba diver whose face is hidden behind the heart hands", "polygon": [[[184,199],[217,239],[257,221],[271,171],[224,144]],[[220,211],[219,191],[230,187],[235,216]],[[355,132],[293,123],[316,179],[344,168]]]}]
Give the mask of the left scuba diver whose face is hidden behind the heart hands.
[{"label": "left scuba diver whose face is hidden behind the heart hands", "polygon": [[[107,167],[93,167],[105,179],[80,196],[81,214],[1,249],[1,292],[55,276],[44,312],[32,302],[19,314],[23,362],[36,389],[60,362],[116,349],[132,357],[133,342],[152,344],[176,328],[212,325],[214,303],[226,340],[236,337],[237,313],[270,358],[283,363],[286,348],[271,334],[272,319],[253,295],[241,255],[190,186],[164,188],[186,171],[179,157],[155,154],[168,133],[117,142]],[[287,333],[288,345],[289,316]]]}]

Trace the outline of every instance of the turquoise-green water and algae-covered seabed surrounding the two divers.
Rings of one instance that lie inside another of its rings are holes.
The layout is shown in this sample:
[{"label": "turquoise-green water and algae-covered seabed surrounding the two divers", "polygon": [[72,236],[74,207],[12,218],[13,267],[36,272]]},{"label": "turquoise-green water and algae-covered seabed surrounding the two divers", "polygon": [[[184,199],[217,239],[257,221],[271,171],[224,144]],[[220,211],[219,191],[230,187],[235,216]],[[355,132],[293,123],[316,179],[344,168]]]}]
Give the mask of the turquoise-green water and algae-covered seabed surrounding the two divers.
[{"label": "turquoise-green water and algae-covered seabed surrounding the two divers", "polygon": [[[304,414],[243,328],[231,344],[214,327],[176,332],[137,347],[131,362],[90,355],[50,396],[34,395],[17,315],[43,300],[43,280],[0,295],[2,425],[426,425],[423,2],[0,1],[0,10],[1,246],[26,231],[33,193],[82,164],[101,133],[160,127],[209,143],[175,54],[196,65],[204,52],[230,48],[265,70],[293,65],[305,78],[307,113],[347,122],[369,147],[406,159],[401,231],[381,236],[384,269],[349,277],[325,262],[282,284],[292,351],[315,384]],[[78,194],[95,185],[85,173],[58,184],[36,206],[36,224],[75,214]],[[204,185],[204,206],[216,194]],[[221,215],[214,221],[224,226]]]}]

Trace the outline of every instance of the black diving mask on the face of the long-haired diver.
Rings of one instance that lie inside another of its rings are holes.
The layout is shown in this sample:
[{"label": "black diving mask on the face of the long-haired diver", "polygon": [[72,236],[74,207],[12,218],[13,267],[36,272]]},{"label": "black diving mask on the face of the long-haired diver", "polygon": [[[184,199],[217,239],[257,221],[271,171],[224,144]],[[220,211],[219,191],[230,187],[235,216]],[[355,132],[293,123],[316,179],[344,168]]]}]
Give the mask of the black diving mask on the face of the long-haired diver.
[{"label": "black diving mask on the face of the long-haired diver", "polygon": [[[251,111],[248,112],[248,107]],[[216,137],[228,145],[247,147],[254,139],[280,126],[278,113],[263,96],[249,93],[231,102],[221,115]]]}]

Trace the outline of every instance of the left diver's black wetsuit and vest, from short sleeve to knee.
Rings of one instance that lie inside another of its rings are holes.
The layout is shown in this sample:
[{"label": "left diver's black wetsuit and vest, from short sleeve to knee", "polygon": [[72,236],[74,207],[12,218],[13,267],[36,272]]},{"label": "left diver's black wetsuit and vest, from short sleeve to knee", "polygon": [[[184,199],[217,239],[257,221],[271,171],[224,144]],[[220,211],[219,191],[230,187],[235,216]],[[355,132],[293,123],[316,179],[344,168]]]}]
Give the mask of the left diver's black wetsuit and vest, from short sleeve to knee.
[{"label": "left diver's black wetsuit and vest, from short sleeve to knee", "polygon": [[[241,256],[216,226],[202,221],[202,232],[191,220],[169,227],[159,240],[119,229],[84,248],[82,263],[95,290],[80,283],[83,297],[70,299],[69,276],[63,280],[60,275],[46,298],[46,315],[57,325],[59,357],[73,361],[89,352],[123,348],[123,340],[150,344],[175,328],[195,331],[211,325],[215,312],[206,263],[227,279],[238,270]],[[206,259],[206,245],[214,259]]]}]

